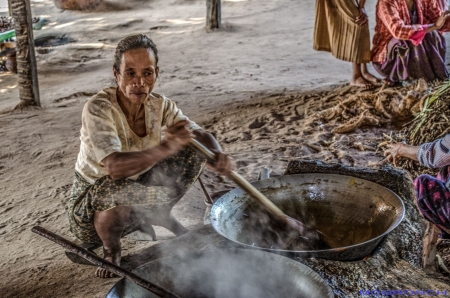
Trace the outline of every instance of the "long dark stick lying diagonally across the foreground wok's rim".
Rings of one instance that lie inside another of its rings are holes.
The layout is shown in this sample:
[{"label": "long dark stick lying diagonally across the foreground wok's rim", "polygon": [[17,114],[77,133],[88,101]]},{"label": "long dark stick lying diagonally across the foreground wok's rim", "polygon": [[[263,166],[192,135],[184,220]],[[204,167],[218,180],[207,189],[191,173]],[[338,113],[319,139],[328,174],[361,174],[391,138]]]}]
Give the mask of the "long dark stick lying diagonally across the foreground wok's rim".
[{"label": "long dark stick lying diagonally across the foreground wok's rim", "polygon": [[62,247],[70,250],[73,253],[76,253],[77,255],[85,258],[86,260],[88,260],[89,262],[91,262],[94,265],[105,268],[109,272],[112,272],[114,274],[125,277],[126,279],[134,282],[135,284],[143,287],[144,289],[149,290],[150,292],[158,295],[159,297],[180,298],[179,296],[173,294],[172,292],[170,292],[160,286],[157,286],[157,285],[149,282],[148,280],[146,280],[128,270],[123,269],[122,267],[119,267],[111,262],[108,262],[107,260],[105,260],[103,258],[100,258],[96,254],[94,254],[86,249],[83,249],[82,247],[76,245],[75,243],[73,243],[59,235],[56,235],[55,233],[50,232],[49,230],[46,230],[43,227],[35,226],[31,229],[31,231],[61,245]]}]

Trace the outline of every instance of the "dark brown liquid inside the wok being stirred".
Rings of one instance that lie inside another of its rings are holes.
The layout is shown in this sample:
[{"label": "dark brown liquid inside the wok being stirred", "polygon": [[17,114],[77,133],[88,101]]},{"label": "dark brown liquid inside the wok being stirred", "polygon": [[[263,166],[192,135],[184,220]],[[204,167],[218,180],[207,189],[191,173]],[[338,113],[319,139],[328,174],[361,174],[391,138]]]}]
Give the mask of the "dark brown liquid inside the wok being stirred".
[{"label": "dark brown liquid inside the wok being stirred", "polygon": [[344,216],[336,216],[332,214],[332,208],[327,210],[320,202],[313,200],[305,200],[301,206],[287,202],[285,206],[287,208],[279,207],[287,215],[320,232],[320,239],[308,241],[298,238],[298,241],[295,239],[286,241],[282,230],[285,227],[274,224],[264,209],[257,204],[251,204],[244,210],[244,224],[237,240],[261,248],[291,251],[323,250],[359,244],[381,235],[383,231],[382,227],[370,222],[371,219],[367,222],[345,220],[345,217],[351,217],[355,210],[349,210]]}]

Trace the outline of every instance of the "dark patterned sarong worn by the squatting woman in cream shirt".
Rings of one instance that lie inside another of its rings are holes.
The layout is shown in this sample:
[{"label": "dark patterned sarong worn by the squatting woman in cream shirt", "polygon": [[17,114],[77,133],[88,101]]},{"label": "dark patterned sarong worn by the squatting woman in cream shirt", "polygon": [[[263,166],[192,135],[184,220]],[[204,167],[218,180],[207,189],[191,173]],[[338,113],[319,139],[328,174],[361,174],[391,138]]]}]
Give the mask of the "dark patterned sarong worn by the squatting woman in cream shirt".
[{"label": "dark patterned sarong worn by the squatting woman in cream shirt", "polygon": [[88,183],[75,172],[72,195],[68,202],[71,232],[88,243],[102,243],[95,231],[96,211],[116,206],[172,206],[198,179],[206,160],[187,147],[157,163],[136,181],[112,180],[109,176]]}]

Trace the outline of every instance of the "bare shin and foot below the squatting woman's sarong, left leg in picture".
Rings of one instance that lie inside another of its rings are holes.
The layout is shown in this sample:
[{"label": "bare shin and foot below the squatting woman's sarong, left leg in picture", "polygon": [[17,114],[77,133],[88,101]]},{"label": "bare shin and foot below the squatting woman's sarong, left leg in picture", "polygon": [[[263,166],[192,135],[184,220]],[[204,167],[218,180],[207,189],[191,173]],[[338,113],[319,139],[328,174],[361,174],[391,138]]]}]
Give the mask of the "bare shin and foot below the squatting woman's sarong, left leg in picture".
[{"label": "bare shin and foot below the squatting woman's sarong, left leg in picture", "polygon": [[[94,214],[94,227],[103,243],[103,258],[115,265],[120,265],[121,246],[120,238],[130,217],[130,206],[117,206],[106,211],[96,211]],[[95,271],[97,277],[114,277],[108,270],[98,267]]]}]

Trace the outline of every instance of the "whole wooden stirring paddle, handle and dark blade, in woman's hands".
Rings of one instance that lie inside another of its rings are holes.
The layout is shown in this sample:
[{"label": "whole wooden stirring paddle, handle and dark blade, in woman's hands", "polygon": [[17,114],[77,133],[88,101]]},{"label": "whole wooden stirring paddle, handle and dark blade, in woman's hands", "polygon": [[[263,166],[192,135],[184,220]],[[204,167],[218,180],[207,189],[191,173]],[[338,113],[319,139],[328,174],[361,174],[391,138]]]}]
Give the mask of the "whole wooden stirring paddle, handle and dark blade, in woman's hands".
[{"label": "whole wooden stirring paddle, handle and dark blade, in woman's hands", "polygon": [[[200,153],[202,156],[210,161],[215,161],[215,154],[206,148],[203,144],[195,139],[191,139],[190,147]],[[311,248],[317,248],[319,242],[319,233],[305,225],[304,223],[286,215],[280,208],[278,208],[265,195],[251,185],[247,180],[235,171],[231,171],[228,178],[233,180],[242,190],[248,193],[261,203],[269,212],[275,221],[275,226],[278,226],[282,231],[281,246],[286,249],[295,243],[303,242],[309,244]]]}]

